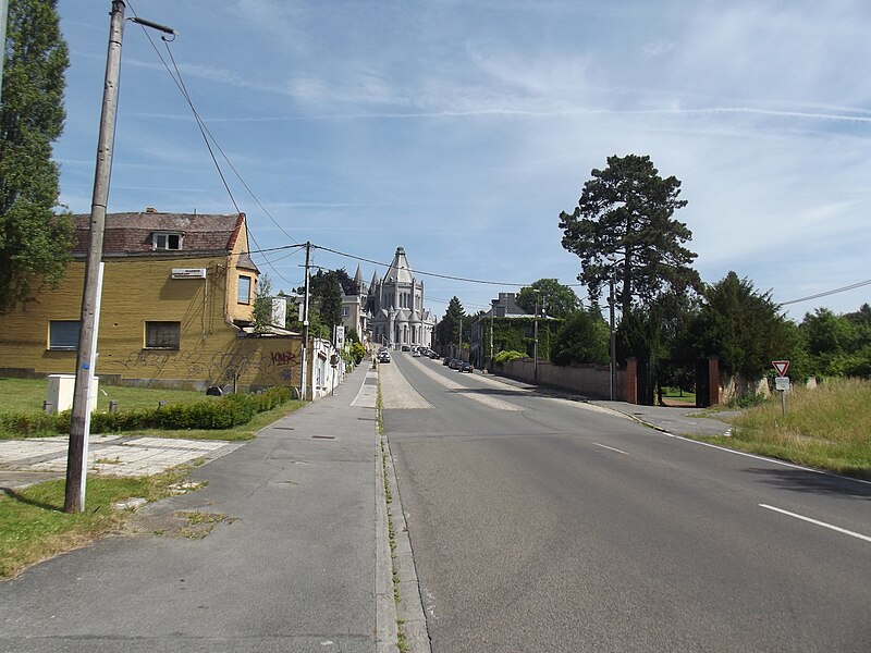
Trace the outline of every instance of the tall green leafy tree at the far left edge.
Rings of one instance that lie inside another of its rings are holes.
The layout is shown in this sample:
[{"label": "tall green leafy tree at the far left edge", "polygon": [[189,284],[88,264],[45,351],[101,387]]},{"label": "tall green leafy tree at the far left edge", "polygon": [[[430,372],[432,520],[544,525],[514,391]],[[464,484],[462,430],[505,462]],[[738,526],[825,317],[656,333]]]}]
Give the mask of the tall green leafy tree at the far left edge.
[{"label": "tall green leafy tree at the far left edge", "polygon": [[56,214],[69,65],[56,0],[11,0],[0,110],[0,311],[57,287],[72,249],[72,222]]}]

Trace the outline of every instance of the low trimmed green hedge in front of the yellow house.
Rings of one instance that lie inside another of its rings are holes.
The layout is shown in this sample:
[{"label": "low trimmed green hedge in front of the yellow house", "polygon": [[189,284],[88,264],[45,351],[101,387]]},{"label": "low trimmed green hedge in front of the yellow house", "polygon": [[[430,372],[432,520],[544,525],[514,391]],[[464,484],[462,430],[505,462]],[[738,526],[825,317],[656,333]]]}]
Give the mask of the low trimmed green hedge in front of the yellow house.
[{"label": "low trimmed green hedge in front of the yellow house", "polygon": [[[95,412],[90,417],[91,433],[116,433],[142,429],[184,431],[189,429],[232,429],[247,423],[258,412],[266,412],[291,399],[287,387],[270,387],[256,394],[226,395],[210,402],[174,404],[155,409],[128,412]],[[58,415],[4,414],[0,415],[3,431],[22,435],[70,432],[69,410]]]}]

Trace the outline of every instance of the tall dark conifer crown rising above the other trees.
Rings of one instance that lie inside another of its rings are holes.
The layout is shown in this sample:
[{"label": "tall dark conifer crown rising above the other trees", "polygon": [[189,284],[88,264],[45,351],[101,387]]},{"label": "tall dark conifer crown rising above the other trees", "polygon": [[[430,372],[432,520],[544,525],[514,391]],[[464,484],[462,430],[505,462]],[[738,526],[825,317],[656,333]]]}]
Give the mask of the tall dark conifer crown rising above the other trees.
[{"label": "tall dark conifer crown rising above the other trees", "polygon": [[650,157],[637,155],[609,157],[608,168],[591,174],[575,210],[560,213],[563,247],[580,258],[578,281],[590,299],[598,299],[615,266],[624,313],[633,297],[646,304],[663,292],[700,288],[689,267],[697,255],[683,247],[692,232],[672,218],[687,204],[678,199],[680,182],[662,178]]}]

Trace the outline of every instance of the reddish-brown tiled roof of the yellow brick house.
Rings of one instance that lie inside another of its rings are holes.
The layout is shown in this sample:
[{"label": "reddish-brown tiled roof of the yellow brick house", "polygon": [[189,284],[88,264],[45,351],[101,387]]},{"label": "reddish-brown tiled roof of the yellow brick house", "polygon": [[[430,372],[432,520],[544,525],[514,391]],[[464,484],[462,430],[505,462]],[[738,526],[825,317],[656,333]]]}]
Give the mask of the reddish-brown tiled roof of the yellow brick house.
[{"label": "reddish-brown tiled roof of the yellow brick house", "polygon": [[[151,251],[151,234],[183,234],[182,251],[226,252],[238,237],[245,213],[210,215],[192,213],[107,213],[103,254]],[[86,254],[90,214],[73,215],[75,244],[73,254]]]}]

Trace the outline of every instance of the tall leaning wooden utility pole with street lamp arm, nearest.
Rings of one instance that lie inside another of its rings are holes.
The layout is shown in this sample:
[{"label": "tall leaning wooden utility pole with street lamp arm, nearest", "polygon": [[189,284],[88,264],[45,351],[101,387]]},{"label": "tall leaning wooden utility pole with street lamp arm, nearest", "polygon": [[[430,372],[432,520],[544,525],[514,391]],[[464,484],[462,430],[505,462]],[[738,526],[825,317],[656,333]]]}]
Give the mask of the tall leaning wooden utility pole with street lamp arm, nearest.
[{"label": "tall leaning wooden utility pole with street lamp arm, nearest", "polygon": [[[82,513],[85,509],[87,444],[90,432],[90,387],[97,362],[97,332],[102,289],[102,239],[106,230],[106,206],[109,200],[109,178],[112,173],[112,149],[115,136],[119,78],[121,73],[121,41],[124,35],[123,0],[112,1],[109,26],[109,49],[106,57],[106,81],[100,113],[100,134],[97,141],[97,165],[94,174],[94,195],[90,204],[90,242],[85,263],[85,284],[82,293],[82,317],[78,328],[78,349],[75,361],[73,414],[70,420],[70,447],[66,454],[66,493],[63,509]],[[169,27],[148,21],[134,21],[174,34]]]}]

